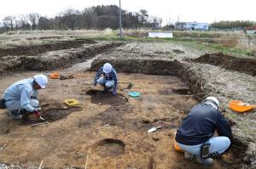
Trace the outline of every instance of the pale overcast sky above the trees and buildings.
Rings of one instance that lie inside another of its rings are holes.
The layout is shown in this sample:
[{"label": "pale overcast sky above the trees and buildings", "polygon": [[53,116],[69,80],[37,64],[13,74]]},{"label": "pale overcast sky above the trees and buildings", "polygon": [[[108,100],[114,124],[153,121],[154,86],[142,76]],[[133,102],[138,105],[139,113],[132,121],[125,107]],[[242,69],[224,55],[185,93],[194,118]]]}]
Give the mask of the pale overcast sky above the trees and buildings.
[{"label": "pale overcast sky above the trees and buildings", "polygon": [[[256,0],[121,0],[131,12],[146,9],[149,15],[167,21],[256,20]],[[67,8],[83,10],[96,5],[115,4],[119,0],[1,0],[0,20],[6,15],[39,13],[54,17]]]}]

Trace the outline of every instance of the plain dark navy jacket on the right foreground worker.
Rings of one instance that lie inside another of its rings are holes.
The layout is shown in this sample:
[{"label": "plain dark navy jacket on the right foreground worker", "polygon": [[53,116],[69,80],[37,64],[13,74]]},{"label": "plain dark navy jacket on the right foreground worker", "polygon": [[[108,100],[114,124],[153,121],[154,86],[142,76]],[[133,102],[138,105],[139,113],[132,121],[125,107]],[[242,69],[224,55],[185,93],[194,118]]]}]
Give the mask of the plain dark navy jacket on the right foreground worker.
[{"label": "plain dark navy jacket on the right foreground worker", "polygon": [[210,104],[197,104],[183,119],[181,127],[177,129],[175,139],[179,144],[203,144],[212,138],[215,129],[218,136],[228,137],[232,142],[231,128],[224,116]]}]

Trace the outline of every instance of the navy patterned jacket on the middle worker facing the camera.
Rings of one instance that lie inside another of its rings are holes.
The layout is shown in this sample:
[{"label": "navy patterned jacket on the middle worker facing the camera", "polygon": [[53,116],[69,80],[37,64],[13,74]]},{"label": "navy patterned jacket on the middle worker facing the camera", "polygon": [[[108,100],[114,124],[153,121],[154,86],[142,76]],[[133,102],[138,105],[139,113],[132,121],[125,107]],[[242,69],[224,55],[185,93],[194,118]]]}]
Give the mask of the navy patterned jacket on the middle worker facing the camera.
[{"label": "navy patterned jacket on the middle worker facing the camera", "polygon": [[108,80],[108,81],[113,81],[113,92],[116,92],[116,89],[117,89],[117,84],[118,84],[118,79],[117,79],[117,76],[116,76],[116,71],[115,69],[112,68],[112,70],[110,71],[110,73],[106,74],[103,72],[103,67],[101,69],[99,69],[97,72],[96,72],[96,76],[95,76],[95,84],[98,80],[98,78],[103,74],[104,76],[104,79]]}]

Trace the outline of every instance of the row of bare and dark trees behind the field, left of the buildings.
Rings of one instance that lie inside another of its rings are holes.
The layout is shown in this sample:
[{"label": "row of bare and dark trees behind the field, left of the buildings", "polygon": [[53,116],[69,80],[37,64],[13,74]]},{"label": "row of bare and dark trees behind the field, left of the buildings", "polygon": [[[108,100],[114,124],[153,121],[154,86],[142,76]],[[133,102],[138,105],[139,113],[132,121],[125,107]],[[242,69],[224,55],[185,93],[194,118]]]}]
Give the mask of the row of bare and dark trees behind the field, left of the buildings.
[{"label": "row of bare and dark trees behind the field, left of the buildings", "polygon": [[[148,15],[148,11],[139,12],[121,10],[122,26],[137,29],[141,27],[159,28],[162,20]],[[117,29],[119,28],[119,7],[116,5],[98,5],[79,11],[68,8],[54,18],[37,13],[6,16],[3,19],[2,31],[14,30],[74,30],[74,29]]]}]

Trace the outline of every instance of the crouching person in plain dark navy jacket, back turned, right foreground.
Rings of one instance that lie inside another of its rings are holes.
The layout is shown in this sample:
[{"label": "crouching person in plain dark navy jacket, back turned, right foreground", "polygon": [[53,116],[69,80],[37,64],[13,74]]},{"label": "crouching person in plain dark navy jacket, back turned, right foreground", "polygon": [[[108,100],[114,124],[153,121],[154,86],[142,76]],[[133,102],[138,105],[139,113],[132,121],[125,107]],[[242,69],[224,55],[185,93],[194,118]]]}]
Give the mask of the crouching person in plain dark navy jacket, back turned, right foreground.
[{"label": "crouching person in plain dark navy jacket, back turned, right foreground", "polygon": [[[175,140],[184,150],[185,159],[211,166],[212,158],[218,157],[230,148],[233,135],[228,121],[219,111],[218,99],[208,97],[202,104],[195,105],[177,129]],[[213,137],[217,130],[218,137]],[[207,156],[201,152],[207,149]]]}]

